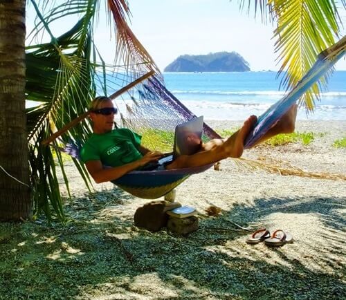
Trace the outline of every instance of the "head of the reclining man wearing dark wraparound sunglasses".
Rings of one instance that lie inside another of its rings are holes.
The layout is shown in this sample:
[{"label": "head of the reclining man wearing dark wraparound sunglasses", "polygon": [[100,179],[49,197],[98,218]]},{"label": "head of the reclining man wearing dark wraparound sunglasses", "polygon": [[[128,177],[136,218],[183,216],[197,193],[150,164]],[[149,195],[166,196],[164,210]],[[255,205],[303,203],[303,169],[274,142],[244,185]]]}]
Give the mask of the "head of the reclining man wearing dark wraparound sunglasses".
[{"label": "head of the reclining man wearing dark wraparound sunglasses", "polygon": [[107,133],[113,129],[114,115],[118,110],[109,97],[95,97],[89,110],[95,133]]}]

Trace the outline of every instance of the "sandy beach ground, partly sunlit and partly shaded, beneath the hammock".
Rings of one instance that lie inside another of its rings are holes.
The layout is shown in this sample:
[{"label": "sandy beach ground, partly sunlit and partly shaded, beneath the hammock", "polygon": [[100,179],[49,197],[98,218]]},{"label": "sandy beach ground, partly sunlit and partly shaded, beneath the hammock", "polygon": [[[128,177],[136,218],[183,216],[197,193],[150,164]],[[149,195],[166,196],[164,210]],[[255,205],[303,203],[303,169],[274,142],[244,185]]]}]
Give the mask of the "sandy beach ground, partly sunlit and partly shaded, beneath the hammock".
[{"label": "sandy beach ground, partly sunlit and partly shaded, beneath the hammock", "polygon": [[[215,129],[240,124],[207,123]],[[312,131],[315,139],[307,146],[297,142],[257,147],[245,151],[244,158],[289,162],[311,174],[346,175],[346,149],[331,146],[345,138],[346,122],[298,122],[296,131]],[[149,200],[111,184],[94,185],[96,191],[89,193],[71,162],[66,162],[66,171],[73,194],[72,201],[66,198],[69,222],[27,225],[35,253],[21,248],[29,260],[28,270],[24,268],[19,278],[24,280],[29,269],[30,276],[44,271],[39,278],[46,283],[37,295],[54,299],[346,297],[345,180],[280,176],[224,160],[220,171],[191,176],[176,189],[176,201],[199,211],[199,229],[174,236],[165,229],[152,233],[134,226],[134,212]],[[63,185],[62,193],[66,196]],[[211,205],[221,214],[207,216]],[[261,227],[271,232],[283,229],[294,242],[277,248],[248,245],[248,235]]]}]

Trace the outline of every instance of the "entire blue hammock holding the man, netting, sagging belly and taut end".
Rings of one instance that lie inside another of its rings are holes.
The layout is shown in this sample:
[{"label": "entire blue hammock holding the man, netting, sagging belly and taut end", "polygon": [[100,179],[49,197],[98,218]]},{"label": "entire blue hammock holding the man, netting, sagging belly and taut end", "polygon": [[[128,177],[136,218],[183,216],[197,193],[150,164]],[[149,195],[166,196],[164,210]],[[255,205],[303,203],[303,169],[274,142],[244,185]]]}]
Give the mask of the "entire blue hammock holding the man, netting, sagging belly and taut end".
[{"label": "entire blue hammock holding the man, netting, sagging belly and taut end", "polygon": [[[316,63],[311,70],[298,82],[298,84],[285,95],[282,100],[273,104],[263,115],[261,115],[255,128],[248,135],[244,147],[250,148],[257,140],[280,120],[282,115],[318,80],[329,71],[334,64],[346,53],[346,36],[338,43],[318,55]],[[113,75],[116,73],[113,73]],[[138,73],[136,73],[138,75]],[[124,73],[120,72],[120,75]],[[128,73],[127,73],[128,75]],[[114,75],[116,78],[118,75]],[[133,79],[133,76],[131,77]],[[122,84],[124,80],[122,79]],[[116,84],[107,89],[115,88]],[[106,88],[98,88],[99,93]],[[146,129],[155,128],[165,131],[174,131],[175,126],[192,118],[196,118],[170,91],[165,88],[163,79],[159,75],[153,75],[144,82],[136,84],[122,94],[122,107],[126,113],[120,114],[122,126],[127,126],[134,131],[145,132]],[[121,109],[120,101],[116,105]],[[220,138],[208,125],[203,126],[203,135],[206,138]],[[70,142],[62,149],[74,158],[79,158],[80,145]],[[55,146],[55,148],[57,148]],[[179,170],[154,170],[154,171],[131,171],[125,176],[112,182],[120,188],[140,198],[158,198],[170,192],[192,174],[197,174],[209,169],[213,164]]]}]

